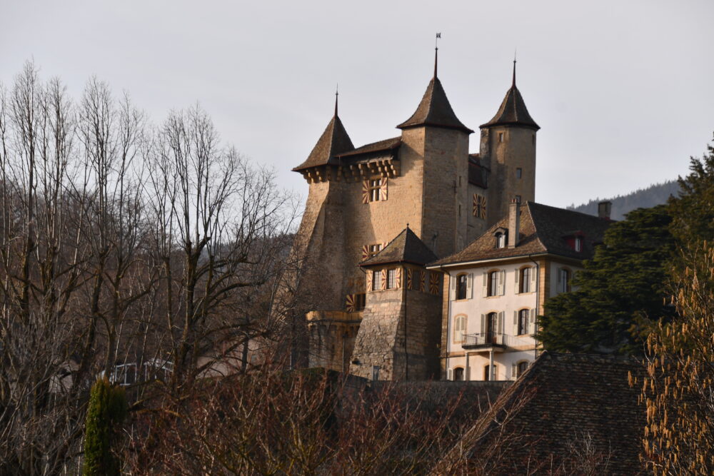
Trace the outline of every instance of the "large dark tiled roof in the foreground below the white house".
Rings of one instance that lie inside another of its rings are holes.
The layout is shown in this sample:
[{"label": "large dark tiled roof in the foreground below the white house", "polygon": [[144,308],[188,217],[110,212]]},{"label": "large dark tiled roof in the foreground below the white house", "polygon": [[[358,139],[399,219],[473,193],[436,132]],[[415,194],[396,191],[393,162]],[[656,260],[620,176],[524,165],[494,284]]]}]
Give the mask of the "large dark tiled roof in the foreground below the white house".
[{"label": "large dark tiled roof in the foreground below the white house", "polygon": [[501,435],[513,437],[517,447],[502,453],[498,474],[535,474],[538,465],[572,474],[573,466],[587,463],[582,459],[589,440],[599,474],[637,475],[643,472],[638,453],[645,408],[638,405],[641,385],[630,388],[630,373],[640,382],[645,375],[634,358],[544,352],[439,466],[476,458],[479,448]]}]

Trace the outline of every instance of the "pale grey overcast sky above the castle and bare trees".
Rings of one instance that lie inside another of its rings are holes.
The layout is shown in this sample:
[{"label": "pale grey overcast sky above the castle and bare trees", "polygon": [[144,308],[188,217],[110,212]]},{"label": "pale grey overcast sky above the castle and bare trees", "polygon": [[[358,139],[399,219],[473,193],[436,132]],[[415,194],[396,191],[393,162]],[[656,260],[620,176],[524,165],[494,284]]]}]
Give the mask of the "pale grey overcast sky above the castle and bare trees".
[{"label": "pale grey overcast sky above the castle and bare trees", "polygon": [[[0,0],[0,81],[34,59],[75,98],[91,75],[156,123],[198,101],[222,138],[290,172],[331,118],[399,135],[433,72],[478,131],[518,88],[540,125],[535,199],[567,206],[687,173],[714,131],[714,1]],[[471,136],[478,152],[478,133]]]}]

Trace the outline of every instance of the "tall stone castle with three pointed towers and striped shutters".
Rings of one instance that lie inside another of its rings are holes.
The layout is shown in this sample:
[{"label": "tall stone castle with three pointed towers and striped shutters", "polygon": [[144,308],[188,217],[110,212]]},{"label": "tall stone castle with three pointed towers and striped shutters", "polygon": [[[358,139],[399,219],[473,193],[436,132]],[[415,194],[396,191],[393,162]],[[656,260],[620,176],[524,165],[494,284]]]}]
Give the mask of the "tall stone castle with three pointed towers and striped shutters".
[{"label": "tall stone castle with three pointed towers and striped shutters", "polygon": [[458,120],[434,66],[401,135],[355,148],[335,113],[293,171],[309,184],[293,253],[308,302],[309,365],[381,380],[438,377],[441,273],[513,198],[535,198],[535,132],[515,82],[491,121]]}]

